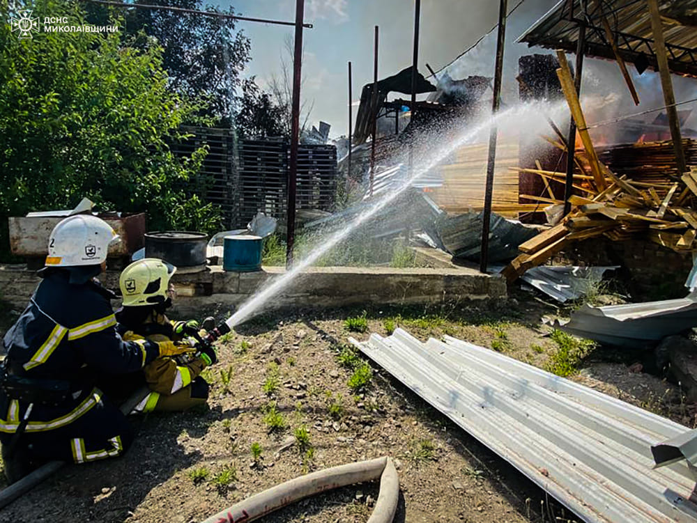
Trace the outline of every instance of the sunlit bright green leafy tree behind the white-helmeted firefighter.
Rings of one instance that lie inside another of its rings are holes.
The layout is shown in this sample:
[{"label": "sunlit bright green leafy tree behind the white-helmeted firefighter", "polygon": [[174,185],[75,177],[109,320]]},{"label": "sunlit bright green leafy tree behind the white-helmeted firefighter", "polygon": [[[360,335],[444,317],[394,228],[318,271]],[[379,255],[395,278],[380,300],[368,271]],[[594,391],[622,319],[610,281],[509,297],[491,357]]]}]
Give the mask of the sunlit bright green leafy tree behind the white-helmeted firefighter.
[{"label": "sunlit bright green leafy tree behind the white-helmeted firefighter", "polygon": [[[34,0],[32,16],[84,12]],[[10,19],[7,3],[0,7]],[[113,22],[116,23],[116,22]],[[118,33],[45,33],[20,40],[0,26],[0,235],[8,216],[70,208],[82,196],[102,210],[146,210],[151,228],[207,223],[211,206],[186,198],[204,148],[176,158],[166,140],[204,107],[168,88],[156,47],[124,47]],[[195,191],[194,191],[195,192]],[[195,197],[194,197],[195,198]],[[215,218],[213,219],[215,221]],[[6,248],[0,249],[6,253]]]}]

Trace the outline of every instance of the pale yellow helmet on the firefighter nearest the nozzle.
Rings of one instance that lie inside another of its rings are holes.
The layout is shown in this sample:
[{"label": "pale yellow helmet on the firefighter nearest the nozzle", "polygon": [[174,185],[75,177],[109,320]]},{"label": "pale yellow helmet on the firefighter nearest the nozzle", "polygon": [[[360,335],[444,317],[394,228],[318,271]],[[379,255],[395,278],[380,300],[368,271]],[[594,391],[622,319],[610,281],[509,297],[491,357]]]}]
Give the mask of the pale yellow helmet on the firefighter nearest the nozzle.
[{"label": "pale yellow helmet on the firefighter nearest the nozzle", "polygon": [[128,265],[118,286],[121,287],[123,306],[154,305],[167,299],[169,279],[176,267],[158,258],[143,258]]}]

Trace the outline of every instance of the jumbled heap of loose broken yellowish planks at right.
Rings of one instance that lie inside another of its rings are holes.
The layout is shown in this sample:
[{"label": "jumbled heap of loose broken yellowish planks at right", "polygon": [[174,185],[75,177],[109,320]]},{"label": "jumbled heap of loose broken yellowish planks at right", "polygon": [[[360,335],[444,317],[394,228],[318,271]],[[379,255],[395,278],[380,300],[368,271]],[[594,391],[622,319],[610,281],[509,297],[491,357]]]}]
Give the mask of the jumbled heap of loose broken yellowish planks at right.
[{"label": "jumbled heap of loose broken yellowish planks at right", "polygon": [[[583,163],[587,162],[579,152]],[[514,281],[532,267],[542,265],[572,242],[605,236],[613,241],[641,235],[674,251],[697,249],[697,167],[680,178],[665,173],[655,182],[636,181],[626,174],[615,175],[602,162],[605,189],[597,189],[590,175],[575,175],[575,195],[569,198],[572,211],[560,223],[521,244],[521,254],[503,274]],[[563,180],[563,173],[527,169],[544,180]],[[562,202],[546,198],[549,203]]]}]

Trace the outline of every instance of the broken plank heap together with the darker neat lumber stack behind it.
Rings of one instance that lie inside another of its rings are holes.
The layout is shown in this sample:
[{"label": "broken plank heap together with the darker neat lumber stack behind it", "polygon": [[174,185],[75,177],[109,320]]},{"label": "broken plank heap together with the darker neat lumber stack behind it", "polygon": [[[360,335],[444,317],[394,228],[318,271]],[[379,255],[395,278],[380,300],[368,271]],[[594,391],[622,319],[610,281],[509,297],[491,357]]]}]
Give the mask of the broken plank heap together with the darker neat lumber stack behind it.
[{"label": "broken plank heap together with the darker neat lumber stack behind it", "polygon": [[[697,160],[697,141],[685,140],[685,146],[688,157]],[[629,150],[634,150],[634,157]],[[692,204],[697,196],[697,167],[678,177],[666,143],[636,144],[603,155],[620,175],[595,155],[577,151],[576,156],[583,174],[574,174],[577,194],[569,198],[571,212],[520,245],[521,254],[503,270],[509,282],[542,265],[572,242],[593,237],[624,241],[643,235],[673,251],[692,251],[696,247],[697,212]],[[593,175],[586,174],[588,168]],[[564,182],[566,178],[565,173],[541,169],[520,171],[535,173],[546,182]],[[559,208],[563,205],[553,197],[538,199]]]}]

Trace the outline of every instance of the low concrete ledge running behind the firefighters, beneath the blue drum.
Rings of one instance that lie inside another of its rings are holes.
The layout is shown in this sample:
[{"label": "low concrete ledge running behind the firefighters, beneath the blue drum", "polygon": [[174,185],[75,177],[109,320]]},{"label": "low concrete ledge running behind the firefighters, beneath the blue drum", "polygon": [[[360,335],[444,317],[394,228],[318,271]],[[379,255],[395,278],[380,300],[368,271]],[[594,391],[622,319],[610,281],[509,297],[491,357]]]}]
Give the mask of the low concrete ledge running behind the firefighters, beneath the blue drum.
[{"label": "low concrete ledge running behind the firefighters, beneath the blue drum", "polygon": [[[102,274],[107,288],[118,287],[118,272]],[[233,309],[265,284],[282,277],[281,267],[261,272],[204,272],[174,275],[177,290],[174,313],[187,315],[203,307]],[[23,309],[40,279],[23,265],[0,266],[0,298]],[[467,267],[409,268],[312,267],[282,292],[269,299],[269,308],[334,307],[366,304],[426,304],[455,299],[505,299],[505,280]],[[116,305],[116,304],[115,304]]]}]

